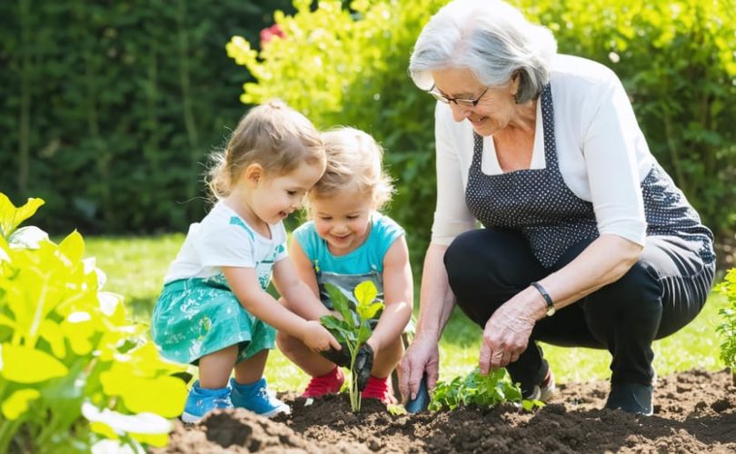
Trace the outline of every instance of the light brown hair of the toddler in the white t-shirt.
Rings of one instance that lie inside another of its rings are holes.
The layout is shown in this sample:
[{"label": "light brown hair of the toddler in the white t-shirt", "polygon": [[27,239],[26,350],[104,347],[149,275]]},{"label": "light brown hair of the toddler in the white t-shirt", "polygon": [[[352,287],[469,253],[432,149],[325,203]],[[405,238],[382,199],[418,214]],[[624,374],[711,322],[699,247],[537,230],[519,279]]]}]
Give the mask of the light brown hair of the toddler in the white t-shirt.
[{"label": "light brown hair of the toddler in the white t-shirt", "polygon": [[226,197],[248,165],[266,175],[283,175],[301,163],[324,165],[320,133],[303,114],[273,100],[251,109],[230,135],[224,150],[210,156],[207,184],[216,198]]}]

